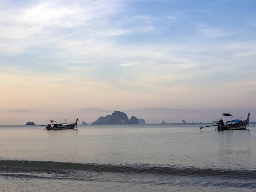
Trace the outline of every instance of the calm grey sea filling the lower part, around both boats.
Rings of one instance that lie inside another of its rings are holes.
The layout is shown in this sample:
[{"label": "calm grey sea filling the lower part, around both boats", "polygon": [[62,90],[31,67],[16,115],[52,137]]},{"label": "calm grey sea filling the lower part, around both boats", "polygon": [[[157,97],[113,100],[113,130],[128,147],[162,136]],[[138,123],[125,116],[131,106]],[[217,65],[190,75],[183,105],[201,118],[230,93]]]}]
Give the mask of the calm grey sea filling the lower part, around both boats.
[{"label": "calm grey sea filling the lower part, around both boats", "polygon": [[256,123],[0,126],[0,192],[256,191]]}]

